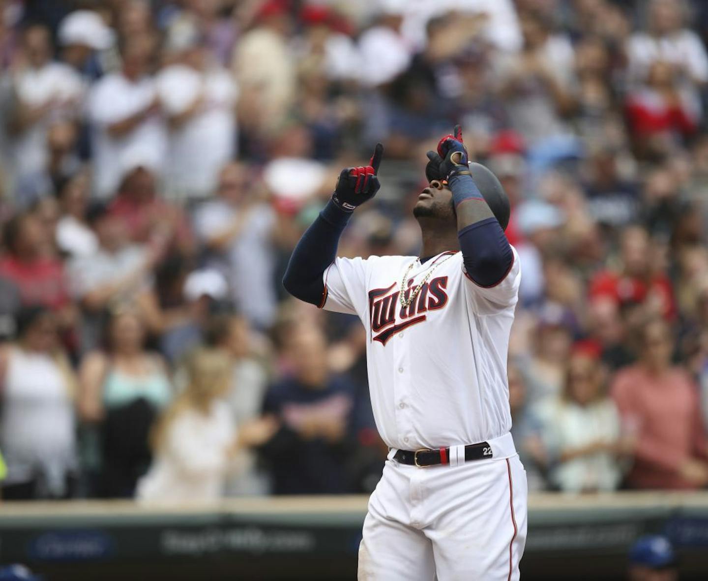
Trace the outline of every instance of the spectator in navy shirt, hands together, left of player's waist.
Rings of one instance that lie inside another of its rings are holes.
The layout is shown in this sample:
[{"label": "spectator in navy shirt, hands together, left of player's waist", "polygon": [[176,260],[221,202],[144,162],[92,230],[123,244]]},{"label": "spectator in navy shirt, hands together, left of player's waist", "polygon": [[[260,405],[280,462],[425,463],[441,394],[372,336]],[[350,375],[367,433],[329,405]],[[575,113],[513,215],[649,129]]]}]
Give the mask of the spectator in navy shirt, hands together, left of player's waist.
[{"label": "spectator in navy shirt, hands together, left of player's waist", "polygon": [[280,429],[261,447],[270,461],[273,494],[350,492],[346,474],[353,385],[327,369],[324,335],[316,327],[293,329],[287,359],[292,375],[273,385],[263,412]]}]

